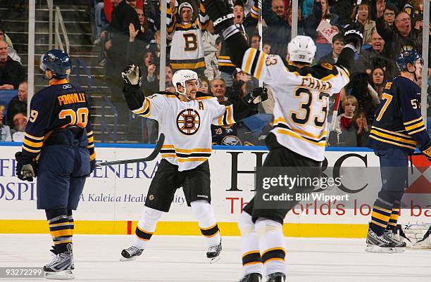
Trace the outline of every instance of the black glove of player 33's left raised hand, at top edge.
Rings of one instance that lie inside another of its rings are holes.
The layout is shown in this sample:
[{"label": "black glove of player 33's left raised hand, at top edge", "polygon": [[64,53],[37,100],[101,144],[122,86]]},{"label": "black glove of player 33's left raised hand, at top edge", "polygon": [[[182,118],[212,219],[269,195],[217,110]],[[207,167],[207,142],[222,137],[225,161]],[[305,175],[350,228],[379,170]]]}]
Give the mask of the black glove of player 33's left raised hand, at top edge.
[{"label": "black glove of player 33's left raised hand, at top edge", "polygon": [[230,0],[201,0],[206,13],[213,20],[214,31],[223,34],[225,39],[232,34],[239,32],[239,28],[234,25],[233,6]]}]

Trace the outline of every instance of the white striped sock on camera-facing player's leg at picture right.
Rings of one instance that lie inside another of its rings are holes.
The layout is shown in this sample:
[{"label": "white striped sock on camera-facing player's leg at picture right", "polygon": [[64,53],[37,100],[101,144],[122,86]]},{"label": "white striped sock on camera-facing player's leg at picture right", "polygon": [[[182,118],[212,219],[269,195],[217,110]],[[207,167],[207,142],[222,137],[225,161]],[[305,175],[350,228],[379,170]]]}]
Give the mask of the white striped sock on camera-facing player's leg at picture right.
[{"label": "white striped sock on camera-facing player's leg at picture right", "polygon": [[208,246],[220,244],[220,230],[218,230],[211,204],[206,200],[195,200],[190,205],[194,217],[198,220],[202,236],[206,238]]}]

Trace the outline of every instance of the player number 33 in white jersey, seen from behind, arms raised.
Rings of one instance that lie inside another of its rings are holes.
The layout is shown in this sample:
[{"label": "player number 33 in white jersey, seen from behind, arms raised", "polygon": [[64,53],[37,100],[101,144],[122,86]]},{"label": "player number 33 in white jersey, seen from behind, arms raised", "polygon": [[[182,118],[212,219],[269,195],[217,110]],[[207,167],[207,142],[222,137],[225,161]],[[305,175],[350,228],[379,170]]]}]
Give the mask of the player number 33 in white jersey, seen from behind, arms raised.
[{"label": "player number 33 in white jersey, seen from behind, arms raised", "polygon": [[[339,92],[349,82],[354,53],[361,49],[362,25],[355,23],[345,28],[346,46],[336,65],[311,67],[316,46],[310,37],[298,36],[288,45],[289,65],[286,67],[280,56],[266,55],[247,46],[233,23],[229,0],[202,2],[213,20],[215,32],[223,34],[232,62],[269,84],[273,91],[274,128],[266,138],[269,153],[263,166],[319,170],[324,160],[328,96]],[[301,189],[304,193],[312,191],[313,187]],[[294,186],[288,193],[298,191]],[[295,204],[290,201],[285,209],[258,209],[251,199],[244,207],[238,224],[244,270],[240,282],[260,282],[263,274],[267,275],[267,282],[285,281],[282,224]]]}]

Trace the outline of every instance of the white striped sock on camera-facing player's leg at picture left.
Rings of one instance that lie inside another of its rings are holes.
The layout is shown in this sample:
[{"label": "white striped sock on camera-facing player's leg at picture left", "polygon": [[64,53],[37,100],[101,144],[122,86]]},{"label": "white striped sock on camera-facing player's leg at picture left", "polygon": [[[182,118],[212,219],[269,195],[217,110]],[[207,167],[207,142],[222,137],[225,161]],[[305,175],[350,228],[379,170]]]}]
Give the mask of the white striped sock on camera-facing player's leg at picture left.
[{"label": "white striped sock on camera-facing player's leg at picture left", "polygon": [[162,214],[163,212],[160,210],[154,210],[151,207],[144,206],[142,217],[139,219],[135,229],[135,238],[133,238],[134,246],[139,249],[144,249],[146,247],[146,243],[148,243],[151,236],[153,236],[158,219],[160,219]]}]

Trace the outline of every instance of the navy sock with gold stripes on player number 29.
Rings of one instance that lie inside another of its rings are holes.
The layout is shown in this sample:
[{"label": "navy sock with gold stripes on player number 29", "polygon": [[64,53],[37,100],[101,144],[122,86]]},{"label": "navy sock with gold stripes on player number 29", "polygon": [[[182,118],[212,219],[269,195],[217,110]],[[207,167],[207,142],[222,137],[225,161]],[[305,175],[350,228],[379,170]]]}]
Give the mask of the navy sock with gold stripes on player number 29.
[{"label": "navy sock with gold stripes on player number 29", "polygon": [[73,224],[69,222],[68,210],[45,210],[45,214],[56,253],[70,251],[68,244],[72,243]]}]

